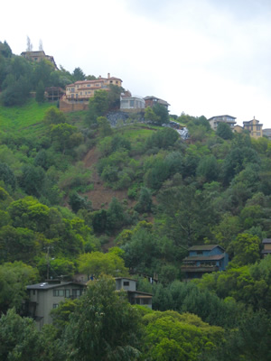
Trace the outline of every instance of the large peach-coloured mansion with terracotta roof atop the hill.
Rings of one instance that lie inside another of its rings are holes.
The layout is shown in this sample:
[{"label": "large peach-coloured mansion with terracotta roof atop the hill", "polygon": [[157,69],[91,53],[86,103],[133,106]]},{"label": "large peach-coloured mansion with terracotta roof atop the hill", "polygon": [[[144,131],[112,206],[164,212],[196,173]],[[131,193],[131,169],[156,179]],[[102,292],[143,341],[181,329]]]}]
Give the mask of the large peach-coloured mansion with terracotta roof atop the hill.
[{"label": "large peach-coloured mansion with terracotta roof atop the hill", "polygon": [[115,77],[107,78],[101,76],[95,80],[79,80],[66,86],[66,99],[68,101],[89,101],[90,97],[94,97],[97,90],[109,90],[110,85],[121,87],[122,80]]}]

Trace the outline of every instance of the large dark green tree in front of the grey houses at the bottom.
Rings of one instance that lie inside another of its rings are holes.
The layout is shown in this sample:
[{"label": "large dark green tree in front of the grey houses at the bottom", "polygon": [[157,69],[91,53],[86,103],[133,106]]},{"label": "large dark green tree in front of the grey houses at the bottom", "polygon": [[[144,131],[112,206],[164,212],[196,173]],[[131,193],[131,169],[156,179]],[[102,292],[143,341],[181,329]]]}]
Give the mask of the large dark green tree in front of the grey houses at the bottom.
[{"label": "large dark green tree in front of the grey houses at the bottom", "polygon": [[139,314],[115,284],[101,277],[89,282],[80,297],[65,332],[70,360],[132,361],[139,356]]}]

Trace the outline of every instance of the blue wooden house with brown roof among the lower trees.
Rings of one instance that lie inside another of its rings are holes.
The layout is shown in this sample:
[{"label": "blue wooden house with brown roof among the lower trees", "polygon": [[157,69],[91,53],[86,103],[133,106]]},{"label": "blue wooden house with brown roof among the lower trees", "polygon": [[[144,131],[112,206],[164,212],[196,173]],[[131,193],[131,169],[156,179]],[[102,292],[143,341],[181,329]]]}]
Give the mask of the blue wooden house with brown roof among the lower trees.
[{"label": "blue wooden house with brown roof among the lower trees", "polygon": [[193,245],[189,255],[182,260],[185,279],[201,278],[204,273],[225,271],[229,255],[220,245]]}]

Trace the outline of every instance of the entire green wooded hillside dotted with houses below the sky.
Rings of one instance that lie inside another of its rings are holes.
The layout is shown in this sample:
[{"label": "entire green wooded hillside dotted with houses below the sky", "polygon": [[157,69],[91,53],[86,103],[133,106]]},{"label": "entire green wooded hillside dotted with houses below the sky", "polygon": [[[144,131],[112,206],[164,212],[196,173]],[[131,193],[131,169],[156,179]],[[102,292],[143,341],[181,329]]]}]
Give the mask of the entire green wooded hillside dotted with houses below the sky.
[{"label": "entire green wooded hillside dotted with houses below the sky", "polygon": [[268,361],[269,129],[123,84],[0,42],[0,359]]}]

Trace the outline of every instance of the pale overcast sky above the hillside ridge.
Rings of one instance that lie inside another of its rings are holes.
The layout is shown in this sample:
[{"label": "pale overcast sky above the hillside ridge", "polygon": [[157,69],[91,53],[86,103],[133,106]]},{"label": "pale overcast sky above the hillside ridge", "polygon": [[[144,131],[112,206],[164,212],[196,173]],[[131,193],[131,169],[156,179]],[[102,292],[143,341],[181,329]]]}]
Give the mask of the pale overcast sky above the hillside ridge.
[{"label": "pale overcast sky above the hillside ridge", "polygon": [[271,128],[271,0],[13,0],[0,41],[72,72],[123,80],[180,116],[255,116]]}]

